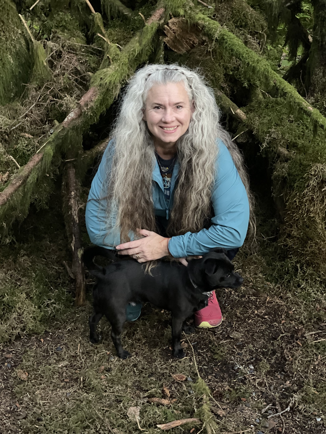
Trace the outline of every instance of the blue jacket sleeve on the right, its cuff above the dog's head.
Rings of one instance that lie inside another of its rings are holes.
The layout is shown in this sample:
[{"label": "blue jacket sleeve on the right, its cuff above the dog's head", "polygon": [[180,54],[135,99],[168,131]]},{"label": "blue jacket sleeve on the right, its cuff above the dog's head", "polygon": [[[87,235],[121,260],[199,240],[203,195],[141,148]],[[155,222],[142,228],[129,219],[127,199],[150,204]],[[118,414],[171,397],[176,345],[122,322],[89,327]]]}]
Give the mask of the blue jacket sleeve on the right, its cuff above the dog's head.
[{"label": "blue jacket sleeve on the right, its cuff above the dog's head", "polygon": [[219,142],[216,164],[212,191],[212,226],[197,233],[187,232],[172,237],[169,250],[176,258],[202,255],[216,247],[234,249],[242,246],[246,238],[249,223],[248,196],[230,152],[222,141]]}]

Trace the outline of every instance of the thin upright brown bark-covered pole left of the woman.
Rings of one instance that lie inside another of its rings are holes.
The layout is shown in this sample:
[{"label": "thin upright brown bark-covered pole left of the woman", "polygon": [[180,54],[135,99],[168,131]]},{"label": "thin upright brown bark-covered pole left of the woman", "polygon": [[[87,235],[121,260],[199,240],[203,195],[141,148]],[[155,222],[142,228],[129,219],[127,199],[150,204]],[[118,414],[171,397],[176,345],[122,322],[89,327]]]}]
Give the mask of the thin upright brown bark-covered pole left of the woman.
[{"label": "thin upright brown bark-covered pole left of the woman", "polygon": [[72,272],[76,280],[75,305],[83,306],[86,300],[85,271],[82,260],[83,247],[78,220],[79,194],[76,172],[73,164],[68,162],[63,175],[64,214],[66,217],[68,237],[71,237],[73,250]]}]

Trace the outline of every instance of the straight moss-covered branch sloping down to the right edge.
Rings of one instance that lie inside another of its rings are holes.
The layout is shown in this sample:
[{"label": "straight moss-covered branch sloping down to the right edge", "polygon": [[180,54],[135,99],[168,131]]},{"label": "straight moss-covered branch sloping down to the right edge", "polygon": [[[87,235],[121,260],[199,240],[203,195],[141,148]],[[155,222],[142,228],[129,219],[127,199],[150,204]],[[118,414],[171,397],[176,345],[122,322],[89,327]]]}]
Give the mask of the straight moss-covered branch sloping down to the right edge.
[{"label": "straight moss-covered branch sloping down to the right edge", "polygon": [[323,129],[326,128],[326,118],[319,110],[311,107],[292,85],[273,71],[266,59],[247,48],[239,38],[224,29],[219,23],[194,8],[190,7],[184,10],[184,15],[191,23],[197,23],[211,39],[216,40],[229,54],[242,62],[244,74],[249,82],[266,92],[270,92],[275,86],[281,94],[286,96],[293,109],[303,110],[313,122]]}]

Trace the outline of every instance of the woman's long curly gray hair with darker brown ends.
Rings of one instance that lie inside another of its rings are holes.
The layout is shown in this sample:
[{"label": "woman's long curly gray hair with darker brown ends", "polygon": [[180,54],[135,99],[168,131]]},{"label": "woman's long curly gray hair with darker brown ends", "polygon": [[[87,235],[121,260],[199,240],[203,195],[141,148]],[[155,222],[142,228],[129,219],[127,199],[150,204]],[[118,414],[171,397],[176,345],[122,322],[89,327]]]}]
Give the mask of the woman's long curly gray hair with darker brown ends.
[{"label": "woman's long curly gray hair with darker brown ends", "polygon": [[253,196],[243,156],[220,125],[220,109],[213,90],[198,72],[186,67],[146,65],[130,79],[111,135],[115,145],[107,179],[108,213],[112,207],[117,209],[116,227],[120,227],[121,242],[129,241],[130,231],[136,233],[137,228],[156,230],[152,198],[155,148],[143,112],[147,93],[154,84],[180,82],[193,102],[194,112],[188,130],[176,143],[180,169],[167,233],[173,236],[198,232],[210,217],[218,153],[216,139],[221,139],[229,149],[246,188],[250,205],[249,230],[254,231]]}]

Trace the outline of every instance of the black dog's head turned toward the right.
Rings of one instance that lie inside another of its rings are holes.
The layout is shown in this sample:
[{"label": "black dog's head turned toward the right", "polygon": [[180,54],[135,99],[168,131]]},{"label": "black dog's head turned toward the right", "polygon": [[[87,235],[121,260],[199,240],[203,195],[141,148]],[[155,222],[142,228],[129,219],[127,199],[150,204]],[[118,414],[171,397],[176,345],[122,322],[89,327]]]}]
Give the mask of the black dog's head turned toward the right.
[{"label": "black dog's head turned toward the right", "polygon": [[224,249],[215,249],[201,259],[191,260],[187,268],[190,276],[201,287],[238,288],[243,283],[243,277],[233,271],[234,265]]}]

